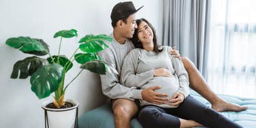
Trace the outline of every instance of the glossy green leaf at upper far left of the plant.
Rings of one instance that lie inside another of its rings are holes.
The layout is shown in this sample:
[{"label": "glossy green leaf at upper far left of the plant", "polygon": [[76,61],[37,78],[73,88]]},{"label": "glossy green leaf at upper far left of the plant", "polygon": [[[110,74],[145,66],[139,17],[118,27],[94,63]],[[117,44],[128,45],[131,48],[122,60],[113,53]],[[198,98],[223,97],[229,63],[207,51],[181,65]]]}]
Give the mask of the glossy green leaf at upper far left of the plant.
[{"label": "glossy green leaf at upper far left of the plant", "polygon": [[42,39],[33,39],[31,37],[12,37],[7,39],[5,44],[28,54],[42,56],[49,52],[49,46]]}]

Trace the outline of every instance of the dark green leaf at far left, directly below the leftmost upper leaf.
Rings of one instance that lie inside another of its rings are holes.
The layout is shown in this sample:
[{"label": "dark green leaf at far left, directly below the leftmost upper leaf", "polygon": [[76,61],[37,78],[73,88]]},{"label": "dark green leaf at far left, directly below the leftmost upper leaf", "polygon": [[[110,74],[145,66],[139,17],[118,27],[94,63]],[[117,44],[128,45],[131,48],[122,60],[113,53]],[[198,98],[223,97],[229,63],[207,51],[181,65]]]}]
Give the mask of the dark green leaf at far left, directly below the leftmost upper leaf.
[{"label": "dark green leaf at far left, directly below the leftmost upper leaf", "polygon": [[46,59],[41,59],[39,57],[27,57],[26,59],[17,61],[14,64],[14,69],[12,71],[11,78],[18,78],[18,73],[20,72],[19,78],[25,79],[31,76],[38,67],[42,65],[47,65],[48,61]]}]

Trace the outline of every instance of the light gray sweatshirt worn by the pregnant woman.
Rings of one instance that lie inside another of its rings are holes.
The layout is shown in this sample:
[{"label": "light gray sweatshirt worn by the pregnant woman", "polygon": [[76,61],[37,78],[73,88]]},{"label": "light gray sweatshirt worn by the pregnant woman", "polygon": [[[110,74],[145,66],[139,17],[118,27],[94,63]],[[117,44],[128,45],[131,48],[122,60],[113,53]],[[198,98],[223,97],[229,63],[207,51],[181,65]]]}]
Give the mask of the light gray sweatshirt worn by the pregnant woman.
[{"label": "light gray sweatshirt worn by the pregnant woman", "polygon": [[[138,87],[146,89],[148,87],[161,85],[159,93],[167,93],[172,98],[174,93],[180,92],[187,97],[189,95],[189,76],[180,59],[176,59],[169,54],[171,48],[163,46],[163,51],[156,52],[146,51],[136,48],[127,54],[123,63],[121,72],[121,83],[128,87]],[[154,77],[153,71],[157,68],[169,69],[173,76]],[[142,106],[153,104],[140,100]],[[174,108],[167,104],[157,105],[163,108]]]}]

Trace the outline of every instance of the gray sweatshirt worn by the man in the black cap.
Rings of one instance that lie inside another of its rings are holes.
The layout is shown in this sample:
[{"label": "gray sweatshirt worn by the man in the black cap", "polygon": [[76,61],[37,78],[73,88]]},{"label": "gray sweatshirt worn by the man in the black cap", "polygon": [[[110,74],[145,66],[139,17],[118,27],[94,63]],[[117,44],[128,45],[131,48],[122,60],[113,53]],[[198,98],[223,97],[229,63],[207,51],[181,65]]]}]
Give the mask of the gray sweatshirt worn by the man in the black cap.
[{"label": "gray sweatshirt worn by the man in the black cap", "polygon": [[113,42],[105,42],[109,48],[99,52],[99,56],[103,61],[112,63],[116,67],[118,74],[110,74],[106,72],[106,75],[100,75],[102,92],[104,95],[111,99],[125,98],[125,99],[142,99],[142,90],[137,89],[135,86],[127,87],[120,83],[120,74],[123,61],[126,55],[134,48],[129,39],[125,44],[119,44],[113,37]]}]

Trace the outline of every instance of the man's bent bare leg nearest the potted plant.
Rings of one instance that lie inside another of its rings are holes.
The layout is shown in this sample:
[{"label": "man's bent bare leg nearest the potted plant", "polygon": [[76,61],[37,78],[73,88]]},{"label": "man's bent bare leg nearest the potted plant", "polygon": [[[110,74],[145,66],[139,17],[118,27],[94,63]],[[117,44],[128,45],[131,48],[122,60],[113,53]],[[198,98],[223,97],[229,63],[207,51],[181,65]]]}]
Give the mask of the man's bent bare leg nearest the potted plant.
[{"label": "man's bent bare leg nearest the potted plant", "polygon": [[116,99],[113,103],[114,126],[116,128],[131,128],[131,118],[139,108],[134,101],[129,99]]}]

